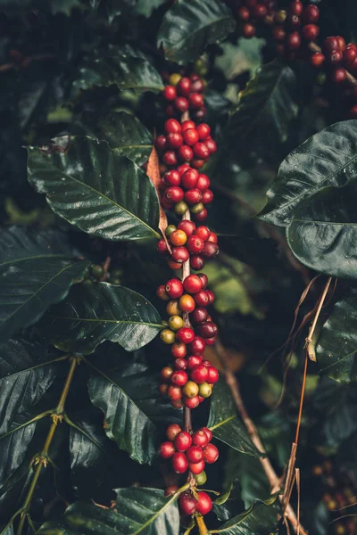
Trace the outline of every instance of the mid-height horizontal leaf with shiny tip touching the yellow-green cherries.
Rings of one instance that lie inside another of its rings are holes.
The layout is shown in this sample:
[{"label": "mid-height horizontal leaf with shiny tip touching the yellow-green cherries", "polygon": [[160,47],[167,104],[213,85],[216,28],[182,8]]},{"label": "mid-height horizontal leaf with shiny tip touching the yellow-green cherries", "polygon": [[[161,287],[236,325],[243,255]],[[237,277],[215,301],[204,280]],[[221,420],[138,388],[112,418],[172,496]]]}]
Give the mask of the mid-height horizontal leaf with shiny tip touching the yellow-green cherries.
[{"label": "mid-height horizontal leaf with shiny tip touching the yellow-green cherries", "polygon": [[48,310],[38,325],[63,351],[87,355],[104,340],[128,351],[151,342],[161,317],[140,293],[107,283],[77,284],[68,298]]}]

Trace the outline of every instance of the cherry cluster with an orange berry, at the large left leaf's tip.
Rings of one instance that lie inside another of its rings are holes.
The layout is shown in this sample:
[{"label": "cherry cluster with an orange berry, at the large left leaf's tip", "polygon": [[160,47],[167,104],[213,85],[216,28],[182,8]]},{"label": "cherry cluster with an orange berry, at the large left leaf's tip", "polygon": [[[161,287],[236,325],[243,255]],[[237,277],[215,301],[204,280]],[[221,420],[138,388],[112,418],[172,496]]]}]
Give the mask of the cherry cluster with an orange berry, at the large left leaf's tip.
[{"label": "cherry cluster with an orange berry, at the large left leaf's tip", "polygon": [[[193,221],[184,219],[176,227],[169,225],[166,229],[166,236],[170,242],[170,251],[168,244],[164,239],[157,244],[158,251],[168,259],[171,269],[180,269],[182,264],[189,259],[190,267],[195,271],[204,268],[204,260],[212,259],[219,253],[217,244],[217,235],[210,231],[207,226],[195,226]],[[200,275],[203,280],[204,289],[207,281],[203,274]],[[194,281],[196,279],[190,279]],[[186,283],[189,285],[189,283]],[[191,283],[192,284],[192,283]],[[197,282],[198,284],[198,282]],[[210,299],[214,299],[212,292],[209,292]],[[161,291],[159,297],[165,298],[165,293]],[[192,302],[192,300],[191,300]],[[183,312],[192,312],[190,309],[182,310]]]}]

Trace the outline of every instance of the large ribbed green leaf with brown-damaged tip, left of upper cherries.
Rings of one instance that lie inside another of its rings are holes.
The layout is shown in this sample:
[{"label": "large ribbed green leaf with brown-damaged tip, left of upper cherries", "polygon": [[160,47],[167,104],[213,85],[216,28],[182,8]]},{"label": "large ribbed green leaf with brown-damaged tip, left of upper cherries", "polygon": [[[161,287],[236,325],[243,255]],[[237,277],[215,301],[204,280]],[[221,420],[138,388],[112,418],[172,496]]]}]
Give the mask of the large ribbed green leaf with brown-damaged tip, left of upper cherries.
[{"label": "large ribbed green leaf with brown-damaged tip, left of upper cherries", "polygon": [[90,137],[73,137],[65,151],[29,147],[29,182],[56,214],[106,240],[160,237],[159,200],[149,177],[137,165]]}]

